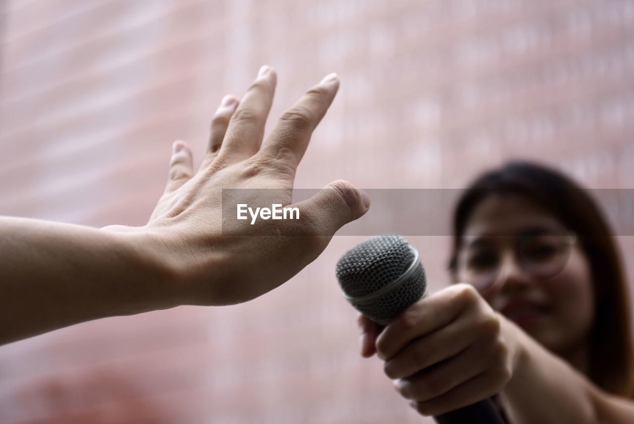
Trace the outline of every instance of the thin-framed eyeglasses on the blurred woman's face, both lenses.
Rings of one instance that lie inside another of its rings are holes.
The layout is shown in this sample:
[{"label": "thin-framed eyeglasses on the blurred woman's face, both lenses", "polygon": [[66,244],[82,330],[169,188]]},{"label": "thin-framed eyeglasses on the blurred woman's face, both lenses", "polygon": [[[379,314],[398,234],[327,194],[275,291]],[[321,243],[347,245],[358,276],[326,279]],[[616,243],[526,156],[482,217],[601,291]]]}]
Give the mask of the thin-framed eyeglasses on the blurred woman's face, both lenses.
[{"label": "thin-framed eyeglasses on the blurred woman's face, both lenses", "polygon": [[[501,243],[508,236],[489,236],[458,254],[460,280],[482,292],[500,276],[503,266]],[[534,279],[551,278],[559,274],[570,257],[575,234],[533,234],[514,238],[512,247],[515,261],[527,276]]]}]

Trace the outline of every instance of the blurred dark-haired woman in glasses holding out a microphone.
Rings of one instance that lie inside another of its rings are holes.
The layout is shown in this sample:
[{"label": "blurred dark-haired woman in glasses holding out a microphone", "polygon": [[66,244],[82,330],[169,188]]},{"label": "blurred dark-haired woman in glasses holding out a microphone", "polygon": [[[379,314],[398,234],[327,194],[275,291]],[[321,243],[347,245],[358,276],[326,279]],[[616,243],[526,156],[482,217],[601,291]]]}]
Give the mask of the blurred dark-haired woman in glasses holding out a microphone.
[{"label": "blurred dark-haired woman in glasses holding out a microphone", "polygon": [[[425,415],[495,396],[510,423],[632,423],[626,281],[588,194],[514,162],[479,177],[455,211],[455,284],[382,333],[361,316],[401,395]],[[380,334],[379,334],[380,333]]]}]

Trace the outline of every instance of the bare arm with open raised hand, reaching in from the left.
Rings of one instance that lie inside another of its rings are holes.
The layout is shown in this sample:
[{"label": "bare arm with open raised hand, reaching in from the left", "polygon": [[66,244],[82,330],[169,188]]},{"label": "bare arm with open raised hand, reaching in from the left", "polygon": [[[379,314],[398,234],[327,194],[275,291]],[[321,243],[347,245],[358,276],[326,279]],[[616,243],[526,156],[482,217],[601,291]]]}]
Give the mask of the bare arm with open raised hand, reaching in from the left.
[{"label": "bare arm with open raised hand, reaching in from the left", "polygon": [[[102,229],[0,217],[0,344],[107,316],[183,304],[227,305],[273,290],[326,248],[369,207],[346,181],[293,204],[295,169],[332,103],[328,75],[278,120],[262,143],[276,74],[262,67],[242,100],[226,96],[212,119],[200,168],[174,143],[169,178],[148,224]],[[223,235],[223,188],[276,189],[301,219]]]}]

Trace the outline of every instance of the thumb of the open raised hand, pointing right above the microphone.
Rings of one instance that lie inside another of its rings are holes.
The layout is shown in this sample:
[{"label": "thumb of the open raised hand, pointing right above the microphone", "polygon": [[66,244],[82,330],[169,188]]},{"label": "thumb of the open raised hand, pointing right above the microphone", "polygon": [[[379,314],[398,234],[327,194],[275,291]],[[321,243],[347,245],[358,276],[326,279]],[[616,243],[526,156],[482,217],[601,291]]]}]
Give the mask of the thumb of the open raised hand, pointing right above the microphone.
[{"label": "thumb of the open raised hand, pointing right above the microphone", "polygon": [[339,228],[368,212],[370,197],[347,181],[337,180],[295,206],[309,218],[315,233],[332,236]]}]

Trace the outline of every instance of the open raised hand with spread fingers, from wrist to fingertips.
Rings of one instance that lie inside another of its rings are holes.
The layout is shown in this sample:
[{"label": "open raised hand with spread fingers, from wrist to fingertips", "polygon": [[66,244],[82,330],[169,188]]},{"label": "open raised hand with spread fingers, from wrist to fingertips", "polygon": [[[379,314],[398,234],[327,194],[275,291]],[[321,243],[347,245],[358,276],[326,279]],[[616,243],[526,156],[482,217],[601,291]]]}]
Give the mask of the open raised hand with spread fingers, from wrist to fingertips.
[{"label": "open raised hand with spread fingers, from wrist to fingertips", "polygon": [[223,221],[223,208],[235,214],[237,203],[268,198],[291,205],[295,169],[339,80],[330,74],[309,89],[262,144],[275,85],[275,71],[264,66],[241,101],[223,98],[197,172],[190,148],[183,141],[174,143],[165,193],[139,231],[153,238],[148,245],[156,247],[173,276],[179,303],[233,304],[268,292],[312,262],[337,229],[369,207],[365,193],[335,181],[292,205],[299,219],[259,220],[256,225],[233,219],[233,226],[227,216]]}]

